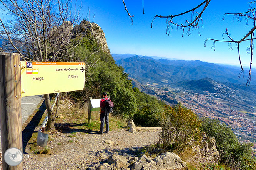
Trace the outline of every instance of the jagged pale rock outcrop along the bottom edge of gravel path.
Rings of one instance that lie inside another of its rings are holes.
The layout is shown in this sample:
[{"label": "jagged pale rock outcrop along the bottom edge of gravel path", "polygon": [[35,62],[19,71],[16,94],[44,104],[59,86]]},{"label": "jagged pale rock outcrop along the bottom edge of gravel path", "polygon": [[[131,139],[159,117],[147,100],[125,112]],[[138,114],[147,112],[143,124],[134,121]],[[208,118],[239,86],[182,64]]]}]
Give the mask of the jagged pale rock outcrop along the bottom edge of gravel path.
[{"label": "jagged pale rock outcrop along the bottom edge of gravel path", "polygon": [[186,167],[180,157],[166,152],[155,158],[142,155],[140,158],[133,155],[112,154],[104,163],[96,163],[88,170],[178,170]]}]

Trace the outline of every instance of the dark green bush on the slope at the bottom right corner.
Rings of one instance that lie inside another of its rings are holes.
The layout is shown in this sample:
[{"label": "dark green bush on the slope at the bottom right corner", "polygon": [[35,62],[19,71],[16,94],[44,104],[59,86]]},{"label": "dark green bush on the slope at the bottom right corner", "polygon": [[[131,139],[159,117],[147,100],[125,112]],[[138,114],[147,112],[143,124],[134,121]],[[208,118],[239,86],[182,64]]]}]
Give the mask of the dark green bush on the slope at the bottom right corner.
[{"label": "dark green bush on the slope at the bottom right corner", "polygon": [[255,170],[256,161],[253,156],[252,144],[240,144],[233,131],[217,119],[202,118],[201,130],[209,137],[215,137],[217,150],[223,150],[221,163],[233,160],[243,170]]}]

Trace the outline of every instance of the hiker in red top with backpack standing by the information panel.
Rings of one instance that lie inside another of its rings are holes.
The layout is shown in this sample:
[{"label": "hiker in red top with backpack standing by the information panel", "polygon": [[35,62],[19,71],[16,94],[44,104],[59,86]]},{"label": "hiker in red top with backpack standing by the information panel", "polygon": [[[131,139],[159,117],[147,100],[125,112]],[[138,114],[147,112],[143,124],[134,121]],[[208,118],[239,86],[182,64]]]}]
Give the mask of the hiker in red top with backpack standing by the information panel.
[{"label": "hiker in red top with backpack standing by the information panel", "polygon": [[106,92],[102,93],[102,97],[103,99],[101,99],[100,101],[100,131],[98,131],[98,134],[103,133],[104,119],[106,123],[106,131],[104,131],[104,133],[108,133],[109,131],[108,116],[109,116],[109,113],[112,111],[112,107],[113,107],[113,102],[107,97]]}]

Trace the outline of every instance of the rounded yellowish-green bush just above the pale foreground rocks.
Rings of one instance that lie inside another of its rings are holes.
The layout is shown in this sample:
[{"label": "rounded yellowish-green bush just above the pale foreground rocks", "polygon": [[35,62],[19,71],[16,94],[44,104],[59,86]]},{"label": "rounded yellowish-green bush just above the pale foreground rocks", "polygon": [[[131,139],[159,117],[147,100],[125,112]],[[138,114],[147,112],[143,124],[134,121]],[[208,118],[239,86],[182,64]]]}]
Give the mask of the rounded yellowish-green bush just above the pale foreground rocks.
[{"label": "rounded yellowish-green bush just above the pale foreground rocks", "polygon": [[201,141],[201,121],[193,111],[180,104],[165,106],[158,145],[167,150],[183,151]]}]

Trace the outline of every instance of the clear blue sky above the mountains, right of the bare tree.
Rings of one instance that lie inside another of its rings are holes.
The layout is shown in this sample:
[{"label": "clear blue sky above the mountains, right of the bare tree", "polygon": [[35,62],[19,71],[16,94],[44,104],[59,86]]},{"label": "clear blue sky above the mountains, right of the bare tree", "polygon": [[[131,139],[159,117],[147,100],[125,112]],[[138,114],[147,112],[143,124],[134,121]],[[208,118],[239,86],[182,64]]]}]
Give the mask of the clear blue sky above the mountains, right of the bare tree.
[{"label": "clear blue sky above the mountains, right of the bare tree", "polygon": [[[212,0],[202,15],[202,24],[198,30],[191,31],[191,35],[185,30],[173,29],[170,35],[166,34],[166,19],[156,18],[151,28],[153,16],[176,15],[190,10],[199,5],[203,0],[125,0],[126,7],[131,15],[134,15],[133,24],[125,11],[122,0],[82,0],[82,17],[97,23],[104,31],[108,47],[114,54],[139,54],[146,56],[159,56],[166,58],[178,58],[184,60],[202,60],[213,63],[239,65],[238,50],[233,44],[230,50],[228,43],[216,42],[215,51],[211,49],[213,41],[204,41],[207,38],[223,40],[222,34],[228,29],[231,37],[239,40],[253,28],[253,22],[246,26],[246,21],[237,21],[232,15],[225,13],[245,12],[249,8],[248,0]],[[256,5],[255,5],[256,6]],[[199,8],[197,12],[200,12]],[[90,11],[90,12],[89,12]],[[177,23],[190,21],[191,13],[175,18]],[[228,40],[224,36],[224,40]],[[249,41],[240,44],[241,60],[244,66],[249,66],[251,56],[246,49]],[[256,61],[253,67],[256,67]]]}]

